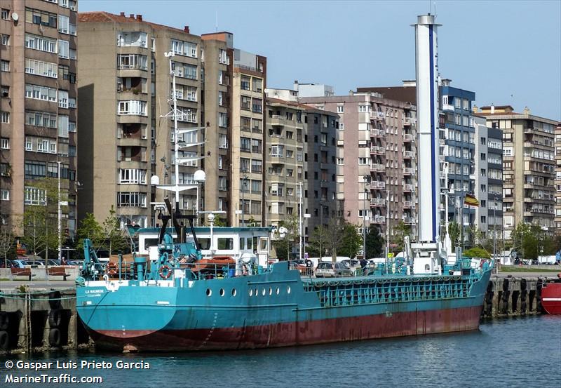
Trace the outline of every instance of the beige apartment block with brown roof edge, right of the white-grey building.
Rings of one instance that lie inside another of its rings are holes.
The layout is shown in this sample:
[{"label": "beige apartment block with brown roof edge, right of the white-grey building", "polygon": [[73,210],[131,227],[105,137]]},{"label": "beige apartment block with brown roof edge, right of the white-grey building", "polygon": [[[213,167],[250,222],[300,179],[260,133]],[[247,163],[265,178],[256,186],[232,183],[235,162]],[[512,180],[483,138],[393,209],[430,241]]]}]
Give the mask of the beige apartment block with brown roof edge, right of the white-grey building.
[{"label": "beige apartment block with brown roof edge, right of the white-grey building", "polygon": [[478,109],[487,126],[503,133],[504,238],[519,222],[553,231],[555,207],[555,126],[557,121],[510,105]]}]

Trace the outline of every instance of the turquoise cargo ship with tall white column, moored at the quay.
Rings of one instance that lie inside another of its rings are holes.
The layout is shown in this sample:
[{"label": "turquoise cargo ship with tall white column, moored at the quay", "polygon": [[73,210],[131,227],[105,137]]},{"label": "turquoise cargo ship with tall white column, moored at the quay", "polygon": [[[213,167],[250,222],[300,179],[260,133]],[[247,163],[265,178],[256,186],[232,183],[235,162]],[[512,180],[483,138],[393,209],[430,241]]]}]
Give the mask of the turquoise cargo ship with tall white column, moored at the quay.
[{"label": "turquoise cargo ship with tall white column, moored at the quay", "polygon": [[[175,185],[158,185],[175,192],[175,210],[166,198],[157,244],[148,249],[153,254],[119,256],[104,265],[84,241],[76,308],[97,347],[254,349],[478,329],[492,262],[450,255],[450,239],[440,241],[437,27],[430,14],[415,25],[419,220],[416,242],[405,239],[405,258],[347,278],[302,276],[288,262],[268,259],[264,230],[216,228],[212,214],[208,231],[195,227],[198,215],[177,210],[178,192],[194,187],[178,185],[176,176]],[[170,74],[175,92],[171,60]],[[176,162],[181,133],[175,116]],[[234,233],[229,248],[236,254],[218,249],[223,230]],[[197,232],[210,233],[209,249]],[[257,254],[241,252],[254,238]]]}]

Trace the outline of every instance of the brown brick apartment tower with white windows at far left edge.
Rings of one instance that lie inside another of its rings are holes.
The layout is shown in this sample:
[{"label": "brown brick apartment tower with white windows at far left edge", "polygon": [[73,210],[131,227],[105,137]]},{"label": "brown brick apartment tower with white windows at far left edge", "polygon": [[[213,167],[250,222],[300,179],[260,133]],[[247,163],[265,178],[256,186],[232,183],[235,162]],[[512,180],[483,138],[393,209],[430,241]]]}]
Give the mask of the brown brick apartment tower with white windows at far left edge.
[{"label": "brown brick apartment tower with white windows at far left edge", "polygon": [[[0,213],[18,225],[60,178],[62,227],[76,230],[76,1],[5,0],[0,17]],[[60,177],[59,177],[60,163]],[[21,232],[16,228],[16,232]]]}]

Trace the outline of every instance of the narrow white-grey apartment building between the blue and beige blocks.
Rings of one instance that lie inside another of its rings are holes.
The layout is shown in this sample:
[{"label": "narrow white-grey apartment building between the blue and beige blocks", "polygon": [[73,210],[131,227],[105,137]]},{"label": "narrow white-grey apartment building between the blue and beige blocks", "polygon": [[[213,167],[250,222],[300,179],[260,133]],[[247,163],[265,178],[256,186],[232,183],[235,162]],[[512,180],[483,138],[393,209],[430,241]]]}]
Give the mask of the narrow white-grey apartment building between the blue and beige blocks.
[{"label": "narrow white-grey apartment building between the blue and beige blocks", "polygon": [[475,225],[483,236],[502,239],[503,133],[487,128],[485,118],[472,116],[475,127]]}]

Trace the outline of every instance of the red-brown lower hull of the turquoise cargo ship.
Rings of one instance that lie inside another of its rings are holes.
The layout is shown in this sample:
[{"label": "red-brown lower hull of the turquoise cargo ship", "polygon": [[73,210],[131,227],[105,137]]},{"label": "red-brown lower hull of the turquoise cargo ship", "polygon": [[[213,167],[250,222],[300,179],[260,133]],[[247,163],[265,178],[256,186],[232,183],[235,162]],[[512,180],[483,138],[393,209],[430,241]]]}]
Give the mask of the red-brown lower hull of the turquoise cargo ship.
[{"label": "red-brown lower hull of the turquoise cargo ship", "polygon": [[482,307],[195,330],[90,330],[97,346],[144,352],[255,349],[476,330]]}]

